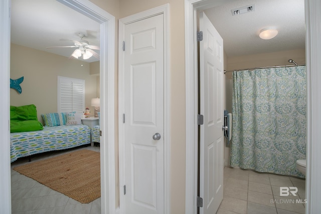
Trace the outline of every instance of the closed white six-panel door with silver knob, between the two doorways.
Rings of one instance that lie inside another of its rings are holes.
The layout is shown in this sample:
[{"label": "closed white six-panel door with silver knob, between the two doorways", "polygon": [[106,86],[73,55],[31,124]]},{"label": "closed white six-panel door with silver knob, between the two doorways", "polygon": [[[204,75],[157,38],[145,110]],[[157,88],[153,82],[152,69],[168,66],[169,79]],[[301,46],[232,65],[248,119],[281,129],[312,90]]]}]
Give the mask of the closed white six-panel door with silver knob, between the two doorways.
[{"label": "closed white six-panel door with silver knob, between the two doorways", "polygon": [[125,25],[125,212],[164,213],[163,15]]}]

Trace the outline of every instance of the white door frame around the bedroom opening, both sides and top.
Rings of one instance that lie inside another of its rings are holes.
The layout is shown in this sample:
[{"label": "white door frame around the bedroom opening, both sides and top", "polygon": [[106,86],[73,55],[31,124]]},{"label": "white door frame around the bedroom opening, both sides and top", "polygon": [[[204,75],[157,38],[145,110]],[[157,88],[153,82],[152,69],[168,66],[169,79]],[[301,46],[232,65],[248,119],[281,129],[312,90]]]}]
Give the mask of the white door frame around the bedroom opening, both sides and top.
[{"label": "white door frame around the bedroom opening, both sides and top", "polygon": [[[114,73],[115,73],[115,18],[88,0],[57,0],[75,11],[100,23],[100,111],[103,135],[100,146],[101,163],[101,212],[115,213],[115,135],[114,135]],[[0,121],[1,143],[0,169],[0,213],[11,213],[11,167],[10,167],[10,7],[11,0],[0,3],[0,110],[3,112]],[[106,98],[106,99],[105,99]],[[7,113],[6,113],[7,112]],[[108,143],[107,143],[108,142]],[[108,146],[106,146],[108,145]],[[112,205],[109,205],[112,204]]]}]

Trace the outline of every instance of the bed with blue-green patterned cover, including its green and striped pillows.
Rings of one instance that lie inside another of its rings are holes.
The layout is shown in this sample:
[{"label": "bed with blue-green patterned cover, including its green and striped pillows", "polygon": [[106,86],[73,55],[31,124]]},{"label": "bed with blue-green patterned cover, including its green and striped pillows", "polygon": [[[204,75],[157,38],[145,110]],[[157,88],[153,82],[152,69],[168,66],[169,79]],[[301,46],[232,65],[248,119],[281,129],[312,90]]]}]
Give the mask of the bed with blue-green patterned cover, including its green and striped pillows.
[{"label": "bed with blue-green patterned cover, including its green and striped pillows", "polygon": [[41,116],[45,126],[37,119],[35,105],[10,107],[11,162],[33,154],[90,145],[91,130],[81,124],[76,112]]}]

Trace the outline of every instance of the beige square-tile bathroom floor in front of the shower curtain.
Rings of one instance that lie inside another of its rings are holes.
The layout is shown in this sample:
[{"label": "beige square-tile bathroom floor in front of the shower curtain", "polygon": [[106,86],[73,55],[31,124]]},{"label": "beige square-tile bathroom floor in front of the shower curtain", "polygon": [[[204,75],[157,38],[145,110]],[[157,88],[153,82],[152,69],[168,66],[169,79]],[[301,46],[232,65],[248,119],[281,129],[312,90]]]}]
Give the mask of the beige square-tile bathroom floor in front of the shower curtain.
[{"label": "beige square-tile bathroom floor in front of the shower curtain", "polygon": [[[281,197],[280,186],[297,187],[297,195]],[[223,195],[217,214],[304,213],[305,180],[225,167]]]}]

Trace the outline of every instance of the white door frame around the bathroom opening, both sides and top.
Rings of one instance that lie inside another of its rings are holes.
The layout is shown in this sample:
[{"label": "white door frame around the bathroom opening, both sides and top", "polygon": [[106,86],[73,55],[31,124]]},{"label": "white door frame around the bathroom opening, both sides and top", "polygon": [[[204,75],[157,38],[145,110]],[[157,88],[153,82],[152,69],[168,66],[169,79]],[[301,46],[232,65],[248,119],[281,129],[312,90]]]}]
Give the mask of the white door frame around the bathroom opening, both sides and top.
[{"label": "white door frame around the bathroom opening, both sides and top", "polygon": [[[197,11],[227,3],[224,0],[185,0],[185,78],[186,78],[186,194],[185,213],[197,213]],[[307,71],[307,144],[306,213],[321,210],[321,8],[319,0],[305,0],[306,71]],[[313,45],[312,45],[313,44]],[[311,188],[313,186],[313,188]]]}]

